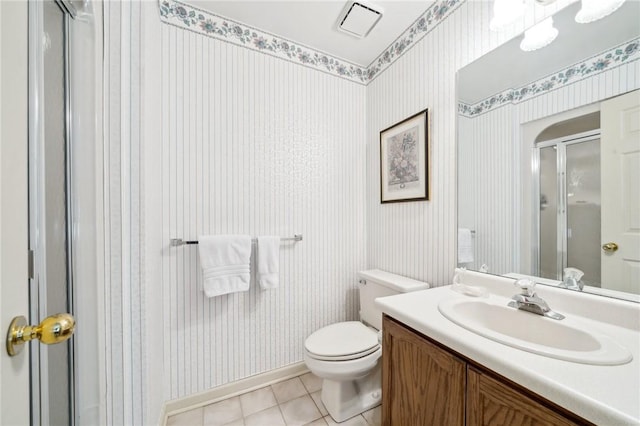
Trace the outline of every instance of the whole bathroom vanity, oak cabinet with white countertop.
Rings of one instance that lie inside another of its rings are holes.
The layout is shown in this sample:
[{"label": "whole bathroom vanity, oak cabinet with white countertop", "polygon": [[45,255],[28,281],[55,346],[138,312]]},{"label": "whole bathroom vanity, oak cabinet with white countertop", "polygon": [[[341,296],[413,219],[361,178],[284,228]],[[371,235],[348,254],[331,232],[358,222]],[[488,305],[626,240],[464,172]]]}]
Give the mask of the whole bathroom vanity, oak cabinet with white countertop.
[{"label": "whole bathroom vanity, oak cabinet with white countertop", "polygon": [[[499,343],[445,317],[441,306],[451,301],[501,306],[517,293],[513,280],[473,272],[466,273],[465,279],[484,286],[489,295],[471,297],[441,287],[376,300],[385,314],[383,424],[640,423],[638,304],[538,288],[540,297],[567,317],[558,323],[568,321],[564,324],[583,327],[585,335],[606,336],[632,358],[611,358],[614,365],[598,365],[601,361],[607,364],[605,358],[611,352],[578,345],[576,352],[586,354],[585,360],[568,361],[555,356],[572,351],[558,350],[558,355],[552,349],[551,356],[533,353]],[[513,311],[525,315],[525,321],[533,319],[532,324],[542,324],[535,322],[540,319],[556,321]],[[513,318],[506,318],[508,322]],[[525,326],[521,333],[526,341],[525,335],[535,335],[536,330]],[[558,340],[560,345],[566,343],[562,340]],[[571,341],[566,345],[575,349]]]}]

